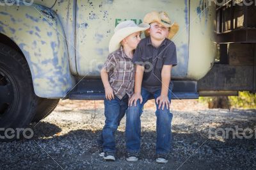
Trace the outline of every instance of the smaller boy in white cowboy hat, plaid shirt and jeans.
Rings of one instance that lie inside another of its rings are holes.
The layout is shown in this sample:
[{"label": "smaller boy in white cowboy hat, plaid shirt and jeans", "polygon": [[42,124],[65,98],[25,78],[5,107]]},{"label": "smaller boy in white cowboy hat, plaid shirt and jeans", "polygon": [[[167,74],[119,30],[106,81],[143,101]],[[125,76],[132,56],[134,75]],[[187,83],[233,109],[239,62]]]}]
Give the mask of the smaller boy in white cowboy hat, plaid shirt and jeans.
[{"label": "smaller boy in white cowboy hat, plaid shirt and jeans", "polygon": [[140,42],[140,33],[148,24],[137,26],[134,21],[120,22],[109,42],[109,56],[100,72],[105,89],[104,114],[106,117],[102,134],[98,139],[100,156],[115,160],[114,134],[128,107],[128,99],[134,90],[135,65],[132,63],[134,49]]}]

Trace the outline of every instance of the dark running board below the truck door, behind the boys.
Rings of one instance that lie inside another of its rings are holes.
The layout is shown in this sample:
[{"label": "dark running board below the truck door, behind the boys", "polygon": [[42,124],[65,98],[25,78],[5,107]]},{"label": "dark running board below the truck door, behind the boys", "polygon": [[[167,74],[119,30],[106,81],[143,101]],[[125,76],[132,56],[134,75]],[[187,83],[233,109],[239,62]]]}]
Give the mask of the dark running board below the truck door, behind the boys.
[{"label": "dark running board below the truck door, behind the boys", "polygon": [[[77,80],[79,82],[79,80]],[[172,99],[197,99],[196,81],[173,81]],[[67,98],[70,100],[104,100],[104,86],[100,79],[86,79],[77,84]]]}]

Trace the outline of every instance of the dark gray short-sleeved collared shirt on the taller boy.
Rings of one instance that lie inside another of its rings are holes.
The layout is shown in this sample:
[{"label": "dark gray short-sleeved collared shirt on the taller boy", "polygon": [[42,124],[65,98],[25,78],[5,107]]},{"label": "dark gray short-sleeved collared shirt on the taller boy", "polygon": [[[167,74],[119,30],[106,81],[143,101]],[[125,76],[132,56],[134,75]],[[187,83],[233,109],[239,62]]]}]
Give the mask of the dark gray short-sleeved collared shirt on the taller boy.
[{"label": "dark gray short-sleeved collared shirt on the taller boy", "polygon": [[[175,44],[167,38],[159,47],[152,45],[150,36],[144,38],[135,50],[132,62],[136,65],[145,66],[141,86],[149,92],[154,92],[162,87],[161,72],[163,65],[177,65]],[[173,83],[170,81],[169,88],[172,90]]]}]

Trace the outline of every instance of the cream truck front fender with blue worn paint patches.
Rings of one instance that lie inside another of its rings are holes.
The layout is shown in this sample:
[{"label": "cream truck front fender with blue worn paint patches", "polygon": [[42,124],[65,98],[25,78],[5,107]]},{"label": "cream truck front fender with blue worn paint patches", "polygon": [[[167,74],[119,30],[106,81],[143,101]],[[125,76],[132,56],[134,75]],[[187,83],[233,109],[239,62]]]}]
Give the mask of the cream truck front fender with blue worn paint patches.
[{"label": "cream truck front fender with blue worn paint patches", "polygon": [[8,36],[28,61],[38,97],[65,97],[74,85],[67,44],[56,13],[44,6],[0,6],[0,33]]}]

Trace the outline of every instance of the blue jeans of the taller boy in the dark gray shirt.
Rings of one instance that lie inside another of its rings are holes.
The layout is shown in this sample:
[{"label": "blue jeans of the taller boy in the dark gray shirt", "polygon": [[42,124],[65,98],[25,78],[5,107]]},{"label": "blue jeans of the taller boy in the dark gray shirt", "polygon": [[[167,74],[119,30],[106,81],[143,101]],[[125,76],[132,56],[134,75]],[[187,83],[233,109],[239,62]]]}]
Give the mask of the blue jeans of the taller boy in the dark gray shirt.
[{"label": "blue jeans of the taller boy in the dark gray shirt", "polygon": [[[140,116],[143,112],[143,105],[147,102],[150,97],[156,98],[161,95],[161,89],[155,91],[154,93],[148,92],[145,88],[141,88],[141,96],[143,98],[142,104],[140,100],[137,101],[136,106],[134,104],[129,106],[126,112],[126,128],[125,128],[125,138],[126,138],[126,150],[127,152],[138,153],[140,151],[140,133],[141,133],[141,120]],[[168,98],[171,102],[172,92],[168,91]],[[172,141],[172,113],[170,108],[158,109],[156,104],[156,153],[157,154],[168,154],[171,148]]]}]

